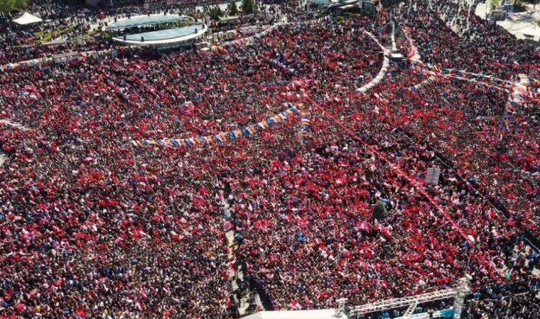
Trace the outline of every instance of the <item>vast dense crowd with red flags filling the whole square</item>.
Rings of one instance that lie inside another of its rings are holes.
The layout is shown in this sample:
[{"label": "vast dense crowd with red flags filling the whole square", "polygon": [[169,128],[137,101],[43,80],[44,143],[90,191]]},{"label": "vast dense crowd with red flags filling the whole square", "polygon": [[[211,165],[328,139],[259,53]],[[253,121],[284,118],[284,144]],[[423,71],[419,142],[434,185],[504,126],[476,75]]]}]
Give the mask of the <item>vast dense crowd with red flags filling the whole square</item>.
[{"label": "vast dense crowd with red flags filling the whole square", "polygon": [[[459,37],[430,10],[470,28]],[[530,288],[539,263],[512,242],[540,218],[536,102],[502,143],[503,91],[443,76],[412,91],[427,76],[406,65],[357,89],[383,63],[364,31],[411,46],[389,34],[391,16],[433,65],[512,80],[519,68],[504,64],[536,52],[444,2],[339,22],[310,20],[296,1],[276,12],[291,23],[245,46],[4,72],[0,119],[25,129],[0,123],[0,318],[234,317],[227,229],[269,308],[408,296],[466,272],[481,291],[473,318],[529,318],[534,296],[500,287]],[[131,143],[238,130],[286,103],[309,125],[292,115],[208,147]],[[428,167],[438,184],[423,183]],[[374,218],[379,204],[387,216]]]}]

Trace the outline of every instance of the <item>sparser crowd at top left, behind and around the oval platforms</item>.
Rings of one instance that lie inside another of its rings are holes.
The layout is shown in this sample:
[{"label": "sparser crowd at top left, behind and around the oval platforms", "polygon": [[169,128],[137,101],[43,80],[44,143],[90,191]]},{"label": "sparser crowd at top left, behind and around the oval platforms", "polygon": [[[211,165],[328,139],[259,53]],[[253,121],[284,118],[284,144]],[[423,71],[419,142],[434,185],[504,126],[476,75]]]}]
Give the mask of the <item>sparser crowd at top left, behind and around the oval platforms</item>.
[{"label": "sparser crowd at top left, behind and around the oval platforms", "polygon": [[[90,10],[84,6],[45,1],[27,8],[27,11],[41,17],[44,22],[26,26],[19,26],[11,21],[20,16],[22,11],[0,13],[0,67],[21,61],[48,58],[65,52],[95,52],[121,48],[122,45],[114,43],[111,33],[102,31],[102,27],[106,23],[112,23],[114,18],[168,12],[183,13],[192,16],[199,23],[205,23],[207,22],[205,16],[215,6],[213,2],[200,3],[198,6],[169,4],[164,1],[148,3],[145,6],[131,6],[125,3],[119,7]],[[232,21],[211,21],[209,31],[225,33],[227,30],[236,30],[239,33],[238,28],[242,26],[271,25],[286,15],[298,16],[295,14],[298,7],[296,3],[258,5],[259,10],[252,15],[239,16]],[[229,9],[225,9],[224,12],[229,13]],[[169,26],[145,28],[146,31],[161,30]],[[225,40],[226,33],[221,36],[220,40]]]}]

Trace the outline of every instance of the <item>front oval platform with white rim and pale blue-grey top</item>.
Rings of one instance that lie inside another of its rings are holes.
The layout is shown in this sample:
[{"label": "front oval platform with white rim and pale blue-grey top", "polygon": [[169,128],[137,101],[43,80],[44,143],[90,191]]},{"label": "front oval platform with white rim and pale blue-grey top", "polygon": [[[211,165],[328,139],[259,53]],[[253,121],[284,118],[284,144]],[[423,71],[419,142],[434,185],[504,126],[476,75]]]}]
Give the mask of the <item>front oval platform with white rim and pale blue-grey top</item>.
[{"label": "front oval platform with white rim and pale blue-grey top", "polygon": [[[158,47],[161,45],[172,45],[200,38],[207,30],[208,27],[205,24],[195,24],[193,26],[126,35],[126,40],[124,40],[124,37],[115,37],[113,40],[123,45],[147,45]],[[141,38],[144,38],[144,41],[142,41]]]}]

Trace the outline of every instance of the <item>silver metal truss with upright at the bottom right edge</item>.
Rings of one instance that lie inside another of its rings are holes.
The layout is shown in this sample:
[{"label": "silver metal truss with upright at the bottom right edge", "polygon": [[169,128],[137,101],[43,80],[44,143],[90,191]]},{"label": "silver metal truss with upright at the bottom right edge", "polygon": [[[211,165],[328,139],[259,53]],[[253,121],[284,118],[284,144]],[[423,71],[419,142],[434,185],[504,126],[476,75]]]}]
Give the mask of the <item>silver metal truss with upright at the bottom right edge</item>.
[{"label": "silver metal truss with upright at the bottom right edge", "polygon": [[[335,317],[342,318],[342,314],[345,313],[349,318],[358,318],[359,315],[365,315],[366,313],[373,313],[381,310],[388,310],[392,308],[404,308],[407,307],[404,315],[401,319],[408,319],[414,313],[416,306],[421,303],[427,303],[430,301],[437,301],[441,299],[453,298],[454,299],[454,318],[460,318],[461,311],[463,310],[463,301],[465,296],[470,292],[469,289],[469,277],[462,278],[458,281],[458,286],[453,289],[446,289],[441,291],[433,291],[431,293],[423,293],[421,295],[409,296],[404,298],[393,298],[384,301],[377,301],[376,303],[367,303],[362,306],[354,306],[347,309],[344,299],[340,299],[340,307],[335,310]],[[346,300],[346,299],[345,299]],[[348,311],[347,311],[348,310]]]}]

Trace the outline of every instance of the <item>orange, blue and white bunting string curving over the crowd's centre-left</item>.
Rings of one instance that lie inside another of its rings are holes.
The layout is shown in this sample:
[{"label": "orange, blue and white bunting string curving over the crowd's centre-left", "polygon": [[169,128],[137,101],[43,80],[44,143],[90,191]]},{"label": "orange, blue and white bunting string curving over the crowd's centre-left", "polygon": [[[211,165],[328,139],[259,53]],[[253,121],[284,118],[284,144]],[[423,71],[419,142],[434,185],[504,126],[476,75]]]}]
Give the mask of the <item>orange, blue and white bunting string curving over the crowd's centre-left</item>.
[{"label": "orange, blue and white bunting string curving over the crowd's centre-left", "polygon": [[235,140],[241,137],[247,137],[254,135],[258,131],[266,130],[271,128],[277,123],[284,122],[291,118],[294,114],[301,116],[302,123],[302,136],[307,138],[309,136],[310,130],[310,121],[311,113],[303,107],[303,104],[299,103],[296,106],[293,106],[291,103],[285,103],[287,106],[286,110],[266,118],[266,120],[252,125],[247,125],[244,128],[238,130],[232,130],[230,132],[222,132],[217,134],[211,134],[207,136],[198,136],[194,138],[165,138],[161,140],[153,139],[141,139],[141,140],[131,140],[131,145],[136,147],[144,147],[148,145],[159,145],[159,146],[169,146],[169,147],[200,147],[207,146],[218,143],[223,145],[228,140]]}]

